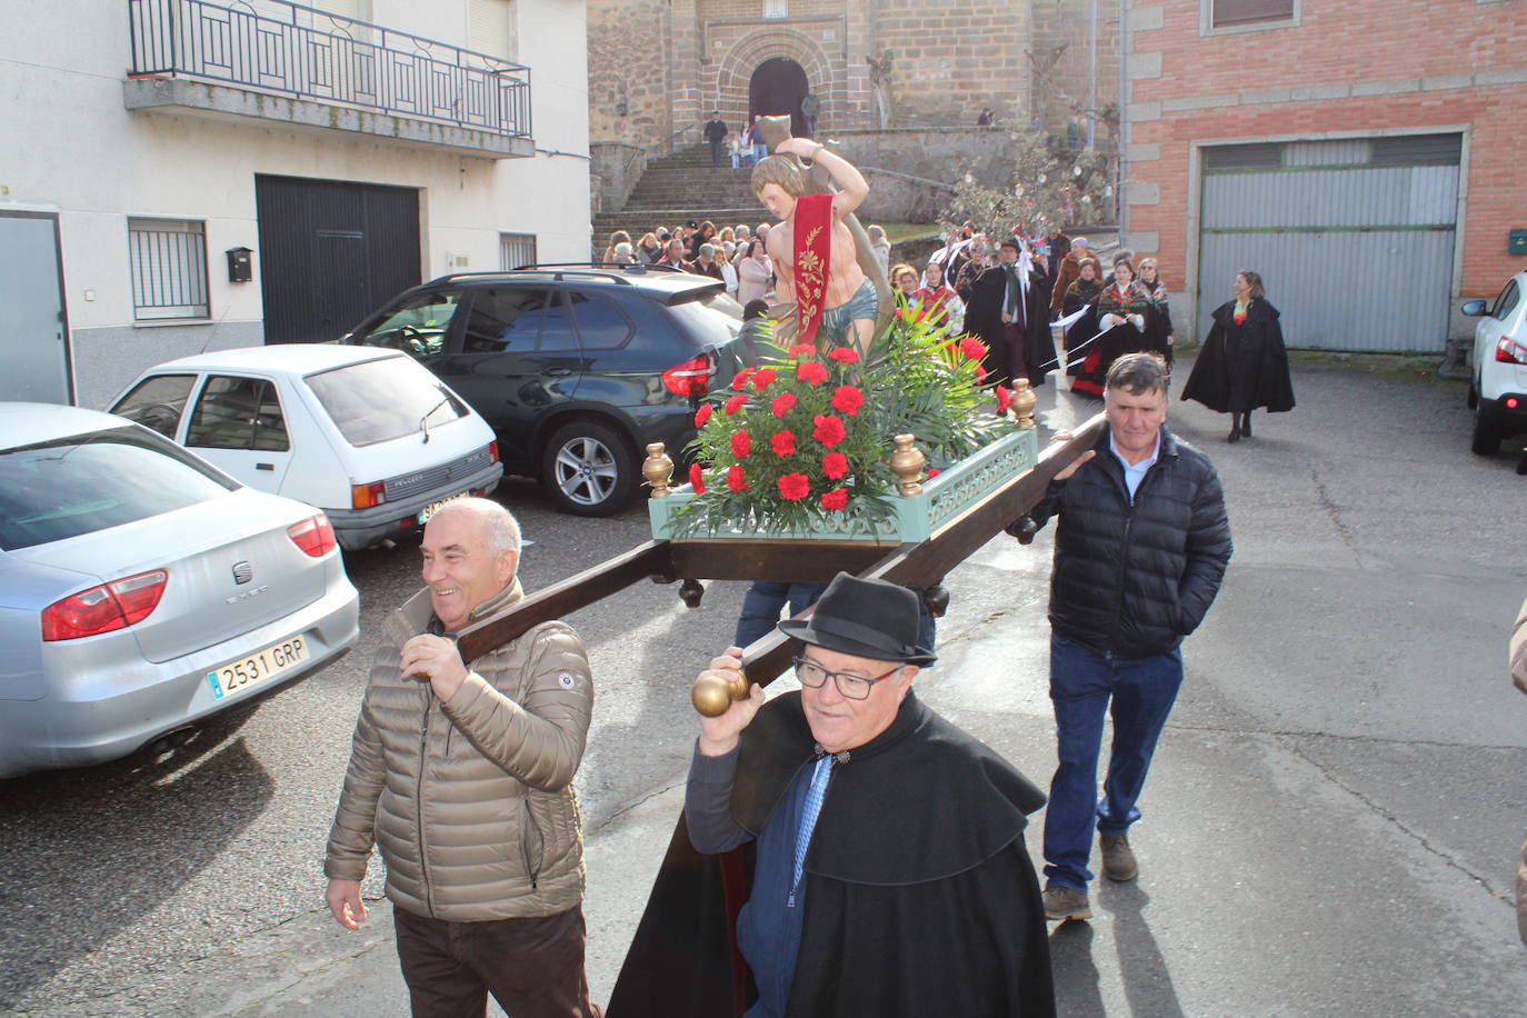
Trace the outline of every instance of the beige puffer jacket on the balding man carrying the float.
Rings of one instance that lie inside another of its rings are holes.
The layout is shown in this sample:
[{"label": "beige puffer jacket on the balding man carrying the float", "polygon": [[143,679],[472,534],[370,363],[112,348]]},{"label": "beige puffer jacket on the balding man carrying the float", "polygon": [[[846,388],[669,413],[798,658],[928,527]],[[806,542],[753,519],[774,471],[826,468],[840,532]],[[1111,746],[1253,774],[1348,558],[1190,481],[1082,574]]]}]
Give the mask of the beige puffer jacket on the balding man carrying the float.
[{"label": "beige puffer jacket on the balding man carrying the float", "polygon": [[[522,597],[519,581],[472,612]],[[394,612],[371,665],[324,873],[365,876],[373,841],[386,894],[420,916],[481,922],[551,916],[583,900],[583,838],[573,775],[594,687],[565,623],[542,623],[472,662],[441,704],[399,675],[426,632],[429,591]]]}]

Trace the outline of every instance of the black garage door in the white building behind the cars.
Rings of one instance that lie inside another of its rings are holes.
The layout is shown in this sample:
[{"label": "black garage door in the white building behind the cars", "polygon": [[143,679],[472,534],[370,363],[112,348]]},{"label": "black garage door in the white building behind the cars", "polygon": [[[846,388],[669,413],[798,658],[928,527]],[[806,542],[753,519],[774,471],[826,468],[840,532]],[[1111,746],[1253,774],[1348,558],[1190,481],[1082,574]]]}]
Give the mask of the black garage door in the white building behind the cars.
[{"label": "black garage door in the white building behind the cars", "polygon": [[418,191],[255,177],[267,343],[336,339],[420,282]]}]

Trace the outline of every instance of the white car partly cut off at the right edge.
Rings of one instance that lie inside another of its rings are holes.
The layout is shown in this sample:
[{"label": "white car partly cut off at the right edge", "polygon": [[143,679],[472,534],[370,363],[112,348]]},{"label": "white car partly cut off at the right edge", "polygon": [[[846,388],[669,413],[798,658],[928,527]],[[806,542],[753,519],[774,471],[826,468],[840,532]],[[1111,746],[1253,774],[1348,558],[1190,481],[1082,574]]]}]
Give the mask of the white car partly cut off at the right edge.
[{"label": "white car partly cut off at the right edge", "polygon": [[1527,433],[1527,272],[1507,279],[1493,304],[1469,301],[1461,310],[1481,319],[1469,368],[1474,452],[1493,456],[1501,440]]}]

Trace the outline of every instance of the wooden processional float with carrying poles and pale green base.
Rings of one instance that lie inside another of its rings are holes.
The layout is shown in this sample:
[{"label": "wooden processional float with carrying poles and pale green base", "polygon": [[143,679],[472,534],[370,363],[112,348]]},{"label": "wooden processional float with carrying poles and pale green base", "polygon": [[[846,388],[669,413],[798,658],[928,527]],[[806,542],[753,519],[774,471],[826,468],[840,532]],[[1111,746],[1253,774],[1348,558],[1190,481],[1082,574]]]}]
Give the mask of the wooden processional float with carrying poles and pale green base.
[{"label": "wooden processional float with carrying poles and pale green base", "polygon": [[[873,528],[818,530],[759,536],[756,531],[701,537],[669,537],[673,510],[689,496],[689,485],[670,487],[673,462],[663,443],[647,446],[643,475],[652,487],[647,502],[654,539],[560,583],[536,591],[513,607],[478,620],[457,636],[461,659],[472,664],[533,626],[594,604],[641,580],[680,583],[680,597],[698,607],[701,580],[774,580],[828,583],[851,572],[880,577],[924,591],[930,614],[939,617],[948,595],[944,577],[996,534],[1008,531],[1022,543],[1032,537],[1026,513],[1044,498],[1044,488],[1092,449],[1102,433],[1101,414],[1078,427],[1064,443],[1037,450],[1032,411],[1035,395],[1019,379],[1011,412],[1020,429],[925,479],[922,453],[912,435],[898,435],[892,467],[898,478],[896,516]],[[799,615],[811,614],[806,609]],[[800,643],[777,629],[745,647],[742,672],[733,682],[696,682],[696,710],[716,716],[733,697],[747,696],[750,682],[768,685],[788,670]]]}]

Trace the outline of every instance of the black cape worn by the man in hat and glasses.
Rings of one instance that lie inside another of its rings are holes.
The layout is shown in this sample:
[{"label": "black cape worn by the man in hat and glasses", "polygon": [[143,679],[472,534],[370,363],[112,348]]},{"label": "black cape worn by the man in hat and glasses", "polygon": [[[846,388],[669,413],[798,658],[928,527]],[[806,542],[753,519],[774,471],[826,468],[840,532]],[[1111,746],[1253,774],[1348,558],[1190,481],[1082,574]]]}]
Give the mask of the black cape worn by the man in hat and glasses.
[{"label": "black cape worn by the man in hat and glasses", "polygon": [[[814,759],[800,694],[742,734],[731,817],[768,823]],[[890,728],[834,766],[806,873],[788,1013],[802,1018],[1055,1013],[1038,882],[1023,847],[1044,795],[913,693]],[[615,983],[608,1018],[727,1018],[754,1000],[731,951],[751,842],[725,856],[689,844],[683,818]],[[724,871],[741,879],[727,902]]]}]

